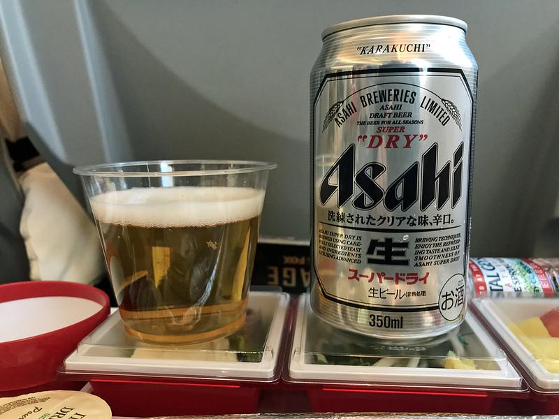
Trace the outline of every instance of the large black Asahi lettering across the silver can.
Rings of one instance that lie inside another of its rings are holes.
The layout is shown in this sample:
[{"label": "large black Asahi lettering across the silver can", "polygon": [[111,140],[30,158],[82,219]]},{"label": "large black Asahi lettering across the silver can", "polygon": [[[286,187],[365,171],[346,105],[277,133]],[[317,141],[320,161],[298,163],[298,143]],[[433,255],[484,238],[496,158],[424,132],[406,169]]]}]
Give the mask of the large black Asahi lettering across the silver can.
[{"label": "large black Asahi lettering across the silver can", "polygon": [[433,203],[440,210],[449,199],[451,207],[456,207],[462,196],[463,154],[464,143],[460,142],[452,159],[445,161],[439,169],[438,145],[435,142],[421,156],[421,163],[412,163],[390,184],[386,180],[379,182],[389,184],[385,191],[376,181],[386,172],[386,166],[372,161],[356,168],[355,145],[351,144],[322,179],[320,203],[326,205],[337,192],[337,207],[340,208],[354,198],[358,189],[357,196],[351,201],[356,210],[368,211],[384,203],[386,210],[394,211],[400,207],[402,211],[407,211],[418,200],[421,211],[427,210]]}]

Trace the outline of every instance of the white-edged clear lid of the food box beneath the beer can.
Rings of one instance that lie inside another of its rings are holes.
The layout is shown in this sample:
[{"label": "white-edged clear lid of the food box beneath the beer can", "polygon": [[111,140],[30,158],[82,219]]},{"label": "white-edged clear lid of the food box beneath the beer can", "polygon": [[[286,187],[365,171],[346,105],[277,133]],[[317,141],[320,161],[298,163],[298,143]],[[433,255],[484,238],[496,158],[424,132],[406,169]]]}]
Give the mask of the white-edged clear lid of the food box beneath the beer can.
[{"label": "white-edged clear lid of the food box beneath the beer can", "polygon": [[291,381],[520,391],[522,378],[472,314],[435,339],[387,343],[324,323],[300,298]]}]

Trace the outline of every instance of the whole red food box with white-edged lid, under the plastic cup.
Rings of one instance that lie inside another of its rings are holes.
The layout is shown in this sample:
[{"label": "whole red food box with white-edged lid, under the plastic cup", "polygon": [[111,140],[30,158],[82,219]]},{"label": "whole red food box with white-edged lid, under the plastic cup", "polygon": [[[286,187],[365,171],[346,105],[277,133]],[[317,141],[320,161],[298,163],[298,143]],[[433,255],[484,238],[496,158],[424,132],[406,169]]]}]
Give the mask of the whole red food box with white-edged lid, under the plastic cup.
[{"label": "whole red food box with white-edged lid, under the plastic cup", "polygon": [[145,344],[124,333],[118,311],[87,336],[61,374],[85,379],[115,416],[256,411],[261,390],[279,384],[289,295],[251,291],[245,326],[205,344]]}]

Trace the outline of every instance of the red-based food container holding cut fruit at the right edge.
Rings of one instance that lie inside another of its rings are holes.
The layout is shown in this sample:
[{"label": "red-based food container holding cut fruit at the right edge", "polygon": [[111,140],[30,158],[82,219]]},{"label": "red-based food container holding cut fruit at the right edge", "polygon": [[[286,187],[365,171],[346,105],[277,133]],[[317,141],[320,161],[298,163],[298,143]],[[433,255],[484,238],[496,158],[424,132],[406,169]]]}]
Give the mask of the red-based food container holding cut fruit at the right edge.
[{"label": "red-based food container holding cut fruit at the right edge", "polygon": [[473,302],[530,386],[532,402],[520,404],[518,411],[559,413],[559,297],[480,298]]}]

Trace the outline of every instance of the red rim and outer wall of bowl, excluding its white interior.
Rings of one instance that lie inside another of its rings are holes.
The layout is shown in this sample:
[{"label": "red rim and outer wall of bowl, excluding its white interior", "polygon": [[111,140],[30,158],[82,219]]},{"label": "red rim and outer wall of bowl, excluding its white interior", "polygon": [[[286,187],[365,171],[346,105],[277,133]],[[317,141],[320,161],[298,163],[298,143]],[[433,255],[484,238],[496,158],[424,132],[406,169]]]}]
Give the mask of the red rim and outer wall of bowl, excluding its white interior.
[{"label": "red rim and outer wall of bowl, excluding its white interior", "polygon": [[78,323],[52,332],[0,342],[0,392],[54,381],[64,358],[109,314],[106,293],[89,285],[63,281],[0,285],[0,303],[33,297],[80,297],[101,304],[101,309]]}]

